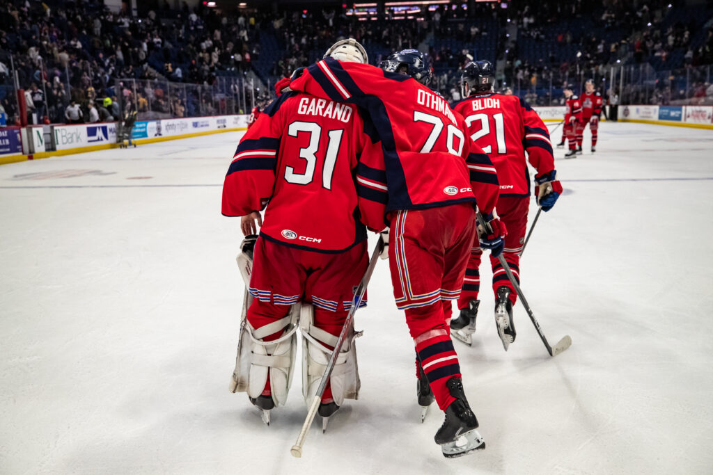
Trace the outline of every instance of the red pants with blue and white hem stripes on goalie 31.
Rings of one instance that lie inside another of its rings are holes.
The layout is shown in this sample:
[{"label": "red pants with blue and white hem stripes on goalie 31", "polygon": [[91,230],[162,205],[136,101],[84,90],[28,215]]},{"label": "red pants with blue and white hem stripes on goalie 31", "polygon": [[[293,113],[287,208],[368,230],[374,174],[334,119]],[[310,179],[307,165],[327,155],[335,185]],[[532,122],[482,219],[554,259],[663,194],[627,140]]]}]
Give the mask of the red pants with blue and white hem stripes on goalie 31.
[{"label": "red pants with blue and white hem stripes on goalie 31", "polygon": [[[329,343],[336,341],[336,338],[329,338],[329,335],[338,337],[342,331],[352,305],[353,289],[359,285],[367,265],[366,241],[339,254],[324,254],[282,246],[260,237],[255,243],[253,255],[248,289],[252,304],[247,309],[247,322],[255,330],[260,330],[265,325],[284,318],[290,312],[292,304],[298,301],[312,303],[313,321],[302,322],[300,326],[303,333],[309,327],[309,333],[315,336],[324,348],[331,351],[334,345]],[[366,298],[362,306],[365,304]],[[314,330],[315,328],[317,330]],[[262,340],[277,340],[283,332],[284,330],[280,329],[266,335]],[[313,383],[316,378],[312,379]],[[358,386],[358,383],[356,385]],[[262,394],[270,395],[270,391],[268,378]],[[337,405],[342,405],[344,394],[339,392],[332,395],[332,387],[329,385],[322,402],[332,402],[332,397]]]}]

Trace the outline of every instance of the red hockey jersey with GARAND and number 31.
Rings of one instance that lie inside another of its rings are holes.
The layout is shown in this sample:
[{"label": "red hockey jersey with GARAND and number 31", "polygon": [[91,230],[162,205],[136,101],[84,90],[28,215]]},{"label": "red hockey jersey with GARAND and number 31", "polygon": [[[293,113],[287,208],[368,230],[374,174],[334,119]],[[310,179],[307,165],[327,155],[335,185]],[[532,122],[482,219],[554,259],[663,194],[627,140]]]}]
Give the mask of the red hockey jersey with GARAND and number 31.
[{"label": "red hockey jersey with GARAND and number 31", "polygon": [[359,154],[381,150],[363,130],[354,105],[281,95],[237,146],[223,184],[222,214],[244,216],[267,205],[260,236],[326,253],[366,239],[360,218],[384,229],[385,190],[359,198],[352,174]]}]

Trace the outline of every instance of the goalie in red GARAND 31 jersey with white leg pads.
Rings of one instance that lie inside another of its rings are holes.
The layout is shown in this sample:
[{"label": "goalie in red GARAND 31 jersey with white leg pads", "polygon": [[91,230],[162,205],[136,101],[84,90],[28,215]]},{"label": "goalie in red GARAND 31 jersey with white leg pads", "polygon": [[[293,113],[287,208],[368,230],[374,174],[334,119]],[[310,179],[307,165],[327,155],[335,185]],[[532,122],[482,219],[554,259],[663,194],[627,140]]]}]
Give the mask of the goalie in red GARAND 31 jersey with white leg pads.
[{"label": "goalie in red GARAND 31 jersey with white leg pads", "polygon": [[[327,54],[367,61],[366,51],[353,39],[335,43]],[[386,193],[358,196],[352,176],[356,157],[372,146],[356,106],[287,93],[245,133],[228,169],[222,214],[243,216],[242,229],[250,232],[267,205],[255,242],[252,303],[232,388],[247,388],[268,423],[270,409],[287,398],[294,365],[297,319],[291,318],[291,306],[311,304],[309,316],[302,310],[299,318],[303,395],[311,401],[347,317],[353,288],[366,270],[366,229],[359,219],[376,231],[385,227]],[[351,330],[319,405],[325,427],[344,398],[356,399],[359,392]]]}]

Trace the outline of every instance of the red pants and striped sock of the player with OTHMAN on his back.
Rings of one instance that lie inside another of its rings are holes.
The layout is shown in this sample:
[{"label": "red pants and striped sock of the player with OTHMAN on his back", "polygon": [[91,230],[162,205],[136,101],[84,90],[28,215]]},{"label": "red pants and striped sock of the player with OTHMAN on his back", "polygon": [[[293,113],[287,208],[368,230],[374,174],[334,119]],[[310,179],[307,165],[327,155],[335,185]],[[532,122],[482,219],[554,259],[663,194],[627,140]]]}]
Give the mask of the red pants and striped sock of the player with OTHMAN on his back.
[{"label": "red pants and striped sock of the player with OTHMAN on his back", "polygon": [[451,301],[458,298],[468,261],[468,249],[476,234],[476,214],[471,204],[391,214],[389,268],[394,298],[406,312],[419,362],[445,411],[456,399],[446,387],[461,377],[451,333]]}]

